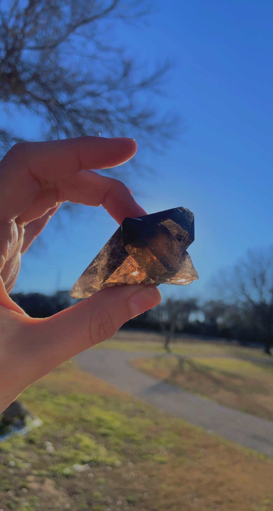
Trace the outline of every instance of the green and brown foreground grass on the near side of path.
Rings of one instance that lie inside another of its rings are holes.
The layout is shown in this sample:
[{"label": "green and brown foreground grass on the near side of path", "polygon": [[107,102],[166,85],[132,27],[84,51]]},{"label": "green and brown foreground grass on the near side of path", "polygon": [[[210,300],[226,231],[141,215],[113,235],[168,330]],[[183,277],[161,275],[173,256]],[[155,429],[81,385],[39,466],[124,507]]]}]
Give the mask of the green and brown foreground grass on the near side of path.
[{"label": "green and brown foreground grass on the near side of path", "polygon": [[66,363],[21,396],[42,420],[0,444],[0,509],[270,511],[273,462]]}]

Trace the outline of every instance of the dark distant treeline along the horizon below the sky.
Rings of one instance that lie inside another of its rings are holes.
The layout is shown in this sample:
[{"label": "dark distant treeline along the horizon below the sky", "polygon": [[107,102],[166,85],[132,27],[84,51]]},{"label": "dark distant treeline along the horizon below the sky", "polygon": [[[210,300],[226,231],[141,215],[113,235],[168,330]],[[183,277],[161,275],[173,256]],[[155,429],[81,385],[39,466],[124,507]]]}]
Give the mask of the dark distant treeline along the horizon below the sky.
[{"label": "dark distant treeline along the horizon below the sky", "polygon": [[[41,293],[13,293],[11,297],[27,314],[41,318],[76,303],[68,291],[58,291],[50,296]],[[267,353],[271,346],[265,331],[255,324],[244,324],[237,309],[213,300],[199,304],[195,298],[169,298],[155,309],[131,319],[123,328],[164,332],[166,347],[173,335],[181,333],[237,340],[243,345],[263,344]]]}]

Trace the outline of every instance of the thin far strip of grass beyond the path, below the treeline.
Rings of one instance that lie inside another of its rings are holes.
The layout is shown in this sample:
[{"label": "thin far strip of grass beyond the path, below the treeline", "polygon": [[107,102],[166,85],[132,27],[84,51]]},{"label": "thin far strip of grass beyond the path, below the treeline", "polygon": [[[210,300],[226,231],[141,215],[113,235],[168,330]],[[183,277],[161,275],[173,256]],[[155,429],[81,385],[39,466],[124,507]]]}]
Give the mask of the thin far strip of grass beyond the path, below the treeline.
[{"label": "thin far strip of grass beyond the path, below the treeline", "polygon": [[[134,352],[165,353],[164,336],[155,332],[139,332],[119,330],[112,339],[97,344],[94,349],[98,350],[121,350]],[[226,356],[236,358],[259,358],[268,360],[261,349],[239,346],[235,343],[215,341],[215,339],[201,340],[190,336],[177,337],[171,342],[173,353],[192,357],[202,356]]]}]

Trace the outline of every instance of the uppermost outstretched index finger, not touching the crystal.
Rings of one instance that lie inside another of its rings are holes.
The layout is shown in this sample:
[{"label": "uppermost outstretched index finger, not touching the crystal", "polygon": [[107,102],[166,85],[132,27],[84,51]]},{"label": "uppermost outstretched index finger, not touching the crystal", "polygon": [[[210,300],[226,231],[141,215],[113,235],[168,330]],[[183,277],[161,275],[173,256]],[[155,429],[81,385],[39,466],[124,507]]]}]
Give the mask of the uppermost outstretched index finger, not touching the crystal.
[{"label": "uppermost outstretched index finger, not touching the crystal", "polygon": [[14,220],[32,204],[45,183],[82,169],[107,169],[132,158],[132,138],[83,136],[16,144],[0,162],[0,219]]}]

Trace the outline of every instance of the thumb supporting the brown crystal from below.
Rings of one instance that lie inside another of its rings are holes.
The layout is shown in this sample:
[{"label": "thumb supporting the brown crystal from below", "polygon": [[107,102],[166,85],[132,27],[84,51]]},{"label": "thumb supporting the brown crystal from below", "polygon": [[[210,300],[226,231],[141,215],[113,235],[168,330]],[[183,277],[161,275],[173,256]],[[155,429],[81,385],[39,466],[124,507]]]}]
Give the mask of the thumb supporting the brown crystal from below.
[{"label": "thumb supporting the brown crystal from below", "polygon": [[[90,346],[109,339],[123,323],[159,304],[157,288],[132,285],[103,289],[90,298],[29,325],[33,381]],[[35,340],[35,342],[34,342]]]}]

